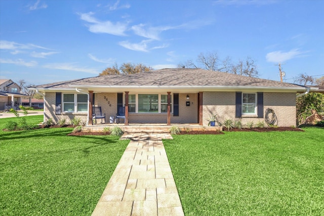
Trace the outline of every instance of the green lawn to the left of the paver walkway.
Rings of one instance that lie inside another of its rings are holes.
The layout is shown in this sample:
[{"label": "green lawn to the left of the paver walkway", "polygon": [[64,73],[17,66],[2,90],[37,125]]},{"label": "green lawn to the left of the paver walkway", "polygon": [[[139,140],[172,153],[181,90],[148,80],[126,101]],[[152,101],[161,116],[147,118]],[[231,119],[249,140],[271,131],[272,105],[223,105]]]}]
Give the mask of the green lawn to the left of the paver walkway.
[{"label": "green lawn to the left of the paver walkway", "polygon": [[72,129],[0,131],[0,215],[92,213],[129,141],[66,136]]}]

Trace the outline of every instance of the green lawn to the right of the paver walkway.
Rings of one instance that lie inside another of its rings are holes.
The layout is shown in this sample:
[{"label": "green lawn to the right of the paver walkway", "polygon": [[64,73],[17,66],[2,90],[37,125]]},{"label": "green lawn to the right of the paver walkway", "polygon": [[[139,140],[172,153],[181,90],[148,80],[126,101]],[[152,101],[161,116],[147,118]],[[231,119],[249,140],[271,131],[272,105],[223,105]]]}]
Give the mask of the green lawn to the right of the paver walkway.
[{"label": "green lawn to the right of the paver walkway", "polygon": [[164,140],[186,215],[324,215],[324,129]]}]

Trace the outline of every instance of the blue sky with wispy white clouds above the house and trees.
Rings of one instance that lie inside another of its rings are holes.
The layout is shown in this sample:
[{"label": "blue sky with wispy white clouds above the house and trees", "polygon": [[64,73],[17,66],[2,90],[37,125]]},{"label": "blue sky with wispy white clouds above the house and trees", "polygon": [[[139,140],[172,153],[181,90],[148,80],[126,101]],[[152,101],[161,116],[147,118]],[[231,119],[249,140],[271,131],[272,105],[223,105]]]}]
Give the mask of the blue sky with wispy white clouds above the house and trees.
[{"label": "blue sky with wispy white clouds above the house and trees", "polygon": [[0,0],[0,78],[44,84],[124,62],[174,68],[217,52],[259,77],[324,74],[324,1]]}]

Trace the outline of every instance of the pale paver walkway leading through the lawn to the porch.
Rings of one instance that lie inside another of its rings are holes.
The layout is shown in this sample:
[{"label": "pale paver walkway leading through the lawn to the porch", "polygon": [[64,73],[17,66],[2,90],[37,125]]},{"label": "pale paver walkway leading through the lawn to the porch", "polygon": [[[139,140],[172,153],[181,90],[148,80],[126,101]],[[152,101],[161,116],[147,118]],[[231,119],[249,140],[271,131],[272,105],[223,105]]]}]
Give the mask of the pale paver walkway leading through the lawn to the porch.
[{"label": "pale paver walkway leading through the lawn to the porch", "polygon": [[184,215],[161,139],[170,134],[129,134],[131,139],[92,215]]}]

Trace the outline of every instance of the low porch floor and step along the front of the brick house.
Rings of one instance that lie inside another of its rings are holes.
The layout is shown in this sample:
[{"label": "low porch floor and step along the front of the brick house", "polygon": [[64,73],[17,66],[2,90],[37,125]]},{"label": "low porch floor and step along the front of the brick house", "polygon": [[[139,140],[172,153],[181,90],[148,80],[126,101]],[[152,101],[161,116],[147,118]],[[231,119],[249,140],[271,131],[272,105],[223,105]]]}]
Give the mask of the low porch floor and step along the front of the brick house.
[{"label": "low porch floor and step along the front of the brick house", "polygon": [[130,123],[127,126],[125,126],[124,123],[97,123],[85,126],[84,130],[89,132],[101,132],[105,127],[114,126],[120,127],[125,133],[169,133],[169,129],[172,126],[178,126],[181,131],[222,131],[222,127],[220,126],[203,126],[194,123],[174,123],[171,125],[164,123]]}]

